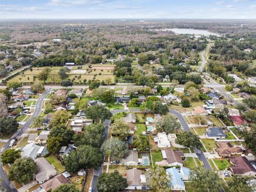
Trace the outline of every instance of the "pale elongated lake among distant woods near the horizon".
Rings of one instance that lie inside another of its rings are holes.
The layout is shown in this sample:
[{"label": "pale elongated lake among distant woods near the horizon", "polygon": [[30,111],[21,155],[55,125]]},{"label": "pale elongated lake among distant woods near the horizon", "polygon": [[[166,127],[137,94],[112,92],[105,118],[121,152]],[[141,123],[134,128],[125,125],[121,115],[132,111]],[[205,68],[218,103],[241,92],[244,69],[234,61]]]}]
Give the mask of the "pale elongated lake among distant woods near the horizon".
[{"label": "pale elongated lake among distant woods near the horizon", "polygon": [[209,36],[209,35],[216,35],[219,36],[218,34],[212,33],[207,30],[199,30],[199,29],[182,29],[182,28],[172,28],[172,29],[159,29],[162,31],[173,31],[175,34],[191,34],[191,35],[196,35],[196,36]]}]

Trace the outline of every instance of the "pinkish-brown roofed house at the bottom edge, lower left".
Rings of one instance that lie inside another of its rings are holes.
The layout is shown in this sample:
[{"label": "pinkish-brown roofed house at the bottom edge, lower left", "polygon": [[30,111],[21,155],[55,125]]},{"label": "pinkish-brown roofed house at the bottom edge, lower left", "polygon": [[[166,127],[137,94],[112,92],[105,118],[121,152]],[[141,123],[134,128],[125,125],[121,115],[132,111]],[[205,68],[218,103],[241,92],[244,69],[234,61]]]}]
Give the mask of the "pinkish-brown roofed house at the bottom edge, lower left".
[{"label": "pinkish-brown roofed house at the bottom edge, lower left", "polygon": [[47,192],[52,191],[58,188],[59,186],[65,184],[71,184],[71,182],[63,174],[59,174],[56,177],[50,179],[49,181],[43,183],[41,185],[41,188],[43,189],[43,191]]}]

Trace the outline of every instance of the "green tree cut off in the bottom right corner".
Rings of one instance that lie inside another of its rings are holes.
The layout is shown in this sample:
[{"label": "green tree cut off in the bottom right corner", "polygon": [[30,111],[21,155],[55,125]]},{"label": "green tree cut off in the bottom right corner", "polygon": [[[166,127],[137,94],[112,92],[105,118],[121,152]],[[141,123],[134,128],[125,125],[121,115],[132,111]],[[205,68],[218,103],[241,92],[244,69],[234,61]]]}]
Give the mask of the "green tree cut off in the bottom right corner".
[{"label": "green tree cut off in the bottom right corner", "polygon": [[253,182],[253,177],[234,175],[231,180],[228,181],[228,191],[236,192],[254,192],[256,189],[255,182]]}]

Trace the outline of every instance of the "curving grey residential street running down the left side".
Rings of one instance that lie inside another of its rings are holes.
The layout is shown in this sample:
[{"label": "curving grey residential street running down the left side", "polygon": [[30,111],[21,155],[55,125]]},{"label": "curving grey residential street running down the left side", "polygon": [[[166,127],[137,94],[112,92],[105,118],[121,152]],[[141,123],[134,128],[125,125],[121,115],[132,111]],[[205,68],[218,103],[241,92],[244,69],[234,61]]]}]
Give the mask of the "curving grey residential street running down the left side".
[{"label": "curving grey residential street running down the left side", "polygon": [[[46,89],[45,92],[41,95],[41,97],[36,101],[35,111],[34,111],[33,115],[31,115],[31,117],[28,119],[28,121],[20,127],[20,129],[9,139],[8,142],[6,142],[6,145],[0,151],[0,155],[3,153],[3,151],[5,151],[6,149],[9,148],[10,141],[14,138],[20,137],[26,131],[26,129],[28,129],[28,127],[31,125],[31,123],[33,122],[33,118],[39,116],[39,114],[41,113],[41,110],[42,110],[43,100],[50,92],[51,92],[50,89]],[[15,189],[15,187],[12,185],[12,183],[8,180],[7,174],[3,170],[2,164],[0,166],[0,177],[3,180],[2,185],[5,189],[7,189],[7,191],[17,192],[17,189]]]}]

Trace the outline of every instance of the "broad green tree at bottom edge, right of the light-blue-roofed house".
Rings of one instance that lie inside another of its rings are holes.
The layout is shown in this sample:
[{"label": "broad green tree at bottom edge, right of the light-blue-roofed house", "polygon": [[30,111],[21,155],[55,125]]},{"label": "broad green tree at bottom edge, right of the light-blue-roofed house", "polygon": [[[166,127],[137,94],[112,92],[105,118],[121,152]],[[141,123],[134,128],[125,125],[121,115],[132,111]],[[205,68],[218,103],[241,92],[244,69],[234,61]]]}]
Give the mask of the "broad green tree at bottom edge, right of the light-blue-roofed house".
[{"label": "broad green tree at bottom edge, right of the light-blue-roofed house", "polygon": [[190,173],[189,180],[194,192],[219,192],[222,189],[218,172],[197,168]]}]

